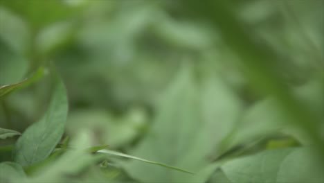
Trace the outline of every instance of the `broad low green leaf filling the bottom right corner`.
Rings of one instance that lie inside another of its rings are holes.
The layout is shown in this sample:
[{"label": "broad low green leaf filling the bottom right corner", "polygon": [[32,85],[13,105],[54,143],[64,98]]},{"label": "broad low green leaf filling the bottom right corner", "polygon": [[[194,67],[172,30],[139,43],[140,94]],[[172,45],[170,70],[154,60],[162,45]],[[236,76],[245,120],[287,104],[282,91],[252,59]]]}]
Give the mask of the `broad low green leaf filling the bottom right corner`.
[{"label": "broad low green leaf filling the bottom right corner", "polygon": [[323,182],[324,169],[311,148],[266,150],[234,159],[222,170],[233,183]]}]

